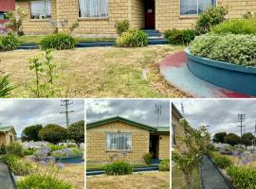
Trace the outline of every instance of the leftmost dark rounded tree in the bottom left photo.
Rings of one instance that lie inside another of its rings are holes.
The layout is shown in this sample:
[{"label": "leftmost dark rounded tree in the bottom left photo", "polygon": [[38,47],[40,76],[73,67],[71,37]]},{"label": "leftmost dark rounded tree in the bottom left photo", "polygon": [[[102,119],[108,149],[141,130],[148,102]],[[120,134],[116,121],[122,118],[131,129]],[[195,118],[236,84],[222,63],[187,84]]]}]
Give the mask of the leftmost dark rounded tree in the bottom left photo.
[{"label": "leftmost dark rounded tree in the bottom left photo", "polygon": [[29,126],[22,131],[23,141],[40,141],[39,131],[43,129],[42,125]]}]

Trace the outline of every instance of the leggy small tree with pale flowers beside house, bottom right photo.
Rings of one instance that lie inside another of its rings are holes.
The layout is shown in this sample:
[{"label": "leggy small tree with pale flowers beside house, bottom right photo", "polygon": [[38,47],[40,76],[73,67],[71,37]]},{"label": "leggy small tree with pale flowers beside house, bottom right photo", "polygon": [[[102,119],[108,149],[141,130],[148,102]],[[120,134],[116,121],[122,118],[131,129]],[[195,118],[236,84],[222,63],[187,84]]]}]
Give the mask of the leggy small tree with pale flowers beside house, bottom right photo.
[{"label": "leggy small tree with pale flowers beside house, bottom right photo", "polygon": [[185,176],[187,188],[192,189],[193,174],[210,146],[210,133],[206,127],[192,129],[185,119],[180,124],[184,129],[185,136],[181,141],[185,148],[174,151],[173,159]]}]

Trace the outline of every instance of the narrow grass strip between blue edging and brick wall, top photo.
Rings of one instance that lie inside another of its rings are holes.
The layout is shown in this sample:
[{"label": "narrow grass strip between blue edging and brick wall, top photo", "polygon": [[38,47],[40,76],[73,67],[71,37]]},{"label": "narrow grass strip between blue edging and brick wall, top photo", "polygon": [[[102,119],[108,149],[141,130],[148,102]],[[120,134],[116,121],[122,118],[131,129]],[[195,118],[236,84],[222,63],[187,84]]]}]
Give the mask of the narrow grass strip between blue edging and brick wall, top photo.
[{"label": "narrow grass strip between blue edging and brick wall, top photo", "polygon": [[[35,36],[21,36],[19,38],[20,43],[40,43],[46,36],[35,35]],[[81,38],[75,37],[77,43],[79,42],[109,42],[115,40],[114,38]]]}]

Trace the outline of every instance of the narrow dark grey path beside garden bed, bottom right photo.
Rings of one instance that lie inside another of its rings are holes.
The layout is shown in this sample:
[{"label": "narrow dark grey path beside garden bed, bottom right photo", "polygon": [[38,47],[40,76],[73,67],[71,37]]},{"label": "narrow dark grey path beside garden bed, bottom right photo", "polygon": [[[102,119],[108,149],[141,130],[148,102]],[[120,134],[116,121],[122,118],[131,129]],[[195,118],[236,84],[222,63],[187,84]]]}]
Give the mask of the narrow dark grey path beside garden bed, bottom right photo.
[{"label": "narrow dark grey path beside garden bed, bottom right photo", "polygon": [[203,157],[201,179],[203,189],[230,189],[227,181],[222,177],[207,156]]}]

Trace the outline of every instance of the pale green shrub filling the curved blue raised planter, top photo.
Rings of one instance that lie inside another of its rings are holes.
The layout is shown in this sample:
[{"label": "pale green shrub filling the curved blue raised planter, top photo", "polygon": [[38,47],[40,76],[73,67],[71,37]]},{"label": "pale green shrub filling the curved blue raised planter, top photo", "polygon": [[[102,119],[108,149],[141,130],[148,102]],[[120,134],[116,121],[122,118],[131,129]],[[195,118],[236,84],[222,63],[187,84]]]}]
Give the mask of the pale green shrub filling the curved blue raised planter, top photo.
[{"label": "pale green shrub filling the curved blue raised planter, top photo", "polygon": [[192,55],[197,57],[256,66],[256,36],[254,35],[202,35],[192,41],[190,50]]}]

